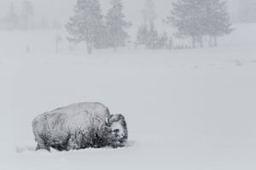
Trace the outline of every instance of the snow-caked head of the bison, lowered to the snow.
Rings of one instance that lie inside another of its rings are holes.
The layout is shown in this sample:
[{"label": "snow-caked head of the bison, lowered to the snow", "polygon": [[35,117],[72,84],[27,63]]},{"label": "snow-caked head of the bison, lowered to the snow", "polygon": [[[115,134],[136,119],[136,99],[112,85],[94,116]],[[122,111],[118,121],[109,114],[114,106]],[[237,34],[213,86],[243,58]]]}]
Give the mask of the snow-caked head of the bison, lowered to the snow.
[{"label": "snow-caked head of the bison, lowered to the snow", "polygon": [[121,114],[108,116],[107,120],[108,144],[113,148],[125,146],[128,139],[128,130],[125,116]]}]

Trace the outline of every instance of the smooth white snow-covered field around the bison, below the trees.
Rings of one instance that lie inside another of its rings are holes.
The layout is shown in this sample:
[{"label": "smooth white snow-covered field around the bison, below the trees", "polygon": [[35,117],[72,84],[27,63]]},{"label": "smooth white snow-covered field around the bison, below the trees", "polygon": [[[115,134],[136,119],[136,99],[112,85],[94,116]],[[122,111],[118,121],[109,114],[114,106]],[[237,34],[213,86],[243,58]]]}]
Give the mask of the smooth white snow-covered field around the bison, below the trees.
[{"label": "smooth white snow-covered field around the bison, below the trees", "polygon": [[[92,56],[55,54],[53,31],[0,32],[0,169],[256,169],[255,31],[236,26],[218,48]],[[33,151],[32,119],[81,101],[124,114],[127,147]]]}]

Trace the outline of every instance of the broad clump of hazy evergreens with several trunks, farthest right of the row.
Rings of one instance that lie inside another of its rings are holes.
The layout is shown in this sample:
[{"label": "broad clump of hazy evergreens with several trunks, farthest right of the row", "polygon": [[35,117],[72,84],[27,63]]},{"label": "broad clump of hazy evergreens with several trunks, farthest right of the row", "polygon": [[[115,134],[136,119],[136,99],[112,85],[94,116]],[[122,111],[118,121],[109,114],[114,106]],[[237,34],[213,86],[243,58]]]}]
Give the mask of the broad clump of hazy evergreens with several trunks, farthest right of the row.
[{"label": "broad clump of hazy evergreens with several trunks, farthest right of the row", "polygon": [[192,37],[193,48],[196,42],[203,46],[203,36],[216,40],[231,31],[227,8],[220,0],[178,0],[172,6],[166,22],[177,27],[177,37]]}]

